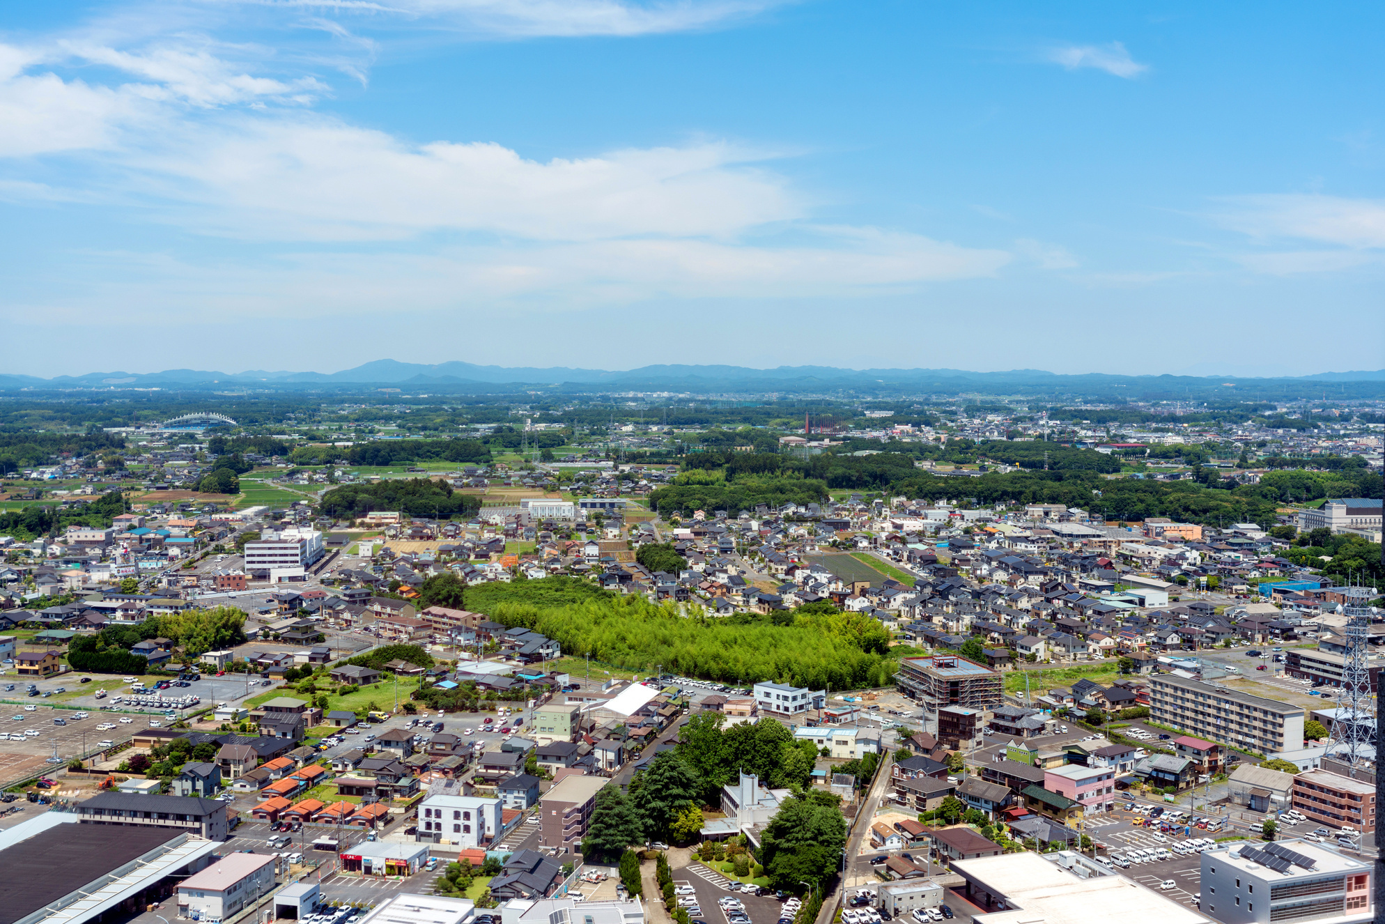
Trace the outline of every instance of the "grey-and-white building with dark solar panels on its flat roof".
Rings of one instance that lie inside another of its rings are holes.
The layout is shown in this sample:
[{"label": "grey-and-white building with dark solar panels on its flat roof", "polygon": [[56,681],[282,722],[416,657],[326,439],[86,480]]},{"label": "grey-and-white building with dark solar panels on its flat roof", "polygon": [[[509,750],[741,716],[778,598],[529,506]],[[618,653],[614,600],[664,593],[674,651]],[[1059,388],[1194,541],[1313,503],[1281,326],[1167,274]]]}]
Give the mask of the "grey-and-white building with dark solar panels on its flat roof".
[{"label": "grey-and-white building with dark solar panels on its flat roof", "polygon": [[1371,874],[1307,841],[1217,846],[1202,853],[1202,907],[1222,924],[1371,921]]}]

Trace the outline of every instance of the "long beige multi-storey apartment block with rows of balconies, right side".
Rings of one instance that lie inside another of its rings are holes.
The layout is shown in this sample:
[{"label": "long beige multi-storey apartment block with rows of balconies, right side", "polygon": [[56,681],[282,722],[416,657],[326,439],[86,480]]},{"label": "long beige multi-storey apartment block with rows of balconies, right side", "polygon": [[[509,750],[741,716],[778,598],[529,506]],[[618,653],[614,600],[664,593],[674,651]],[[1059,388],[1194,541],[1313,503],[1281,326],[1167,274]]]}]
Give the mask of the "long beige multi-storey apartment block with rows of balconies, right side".
[{"label": "long beige multi-storey apartment block with rows of balconies, right side", "polygon": [[1303,747],[1303,709],[1173,675],[1150,677],[1150,715],[1201,738],[1262,754]]}]

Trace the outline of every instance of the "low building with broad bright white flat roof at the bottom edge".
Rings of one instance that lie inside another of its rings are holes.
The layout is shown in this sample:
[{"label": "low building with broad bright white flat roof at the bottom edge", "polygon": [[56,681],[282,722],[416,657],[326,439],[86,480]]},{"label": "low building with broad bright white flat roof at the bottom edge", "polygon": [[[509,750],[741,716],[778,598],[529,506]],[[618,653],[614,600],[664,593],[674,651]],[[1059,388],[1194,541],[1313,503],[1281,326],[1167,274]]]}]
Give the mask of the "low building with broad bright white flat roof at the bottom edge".
[{"label": "low building with broad bright white flat roof at the bottom edge", "polygon": [[[1206,856],[1206,855],[1204,855]],[[1053,862],[1035,852],[954,860],[963,898],[982,909],[975,924],[1215,924],[1195,907],[1061,852]],[[1202,889],[1206,902],[1206,888]]]}]

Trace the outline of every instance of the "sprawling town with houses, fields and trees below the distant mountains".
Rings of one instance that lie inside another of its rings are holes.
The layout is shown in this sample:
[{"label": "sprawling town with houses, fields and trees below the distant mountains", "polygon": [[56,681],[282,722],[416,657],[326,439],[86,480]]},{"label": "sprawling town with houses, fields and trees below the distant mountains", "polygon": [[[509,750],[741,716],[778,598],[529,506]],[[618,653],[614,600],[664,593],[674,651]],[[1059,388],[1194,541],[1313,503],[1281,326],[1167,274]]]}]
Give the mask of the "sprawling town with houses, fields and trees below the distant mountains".
[{"label": "sprawling town with houses, fields and trees below the distant mountains", "polygon": [[1375,916],[1377,398],[0,416],[0,924]]}]

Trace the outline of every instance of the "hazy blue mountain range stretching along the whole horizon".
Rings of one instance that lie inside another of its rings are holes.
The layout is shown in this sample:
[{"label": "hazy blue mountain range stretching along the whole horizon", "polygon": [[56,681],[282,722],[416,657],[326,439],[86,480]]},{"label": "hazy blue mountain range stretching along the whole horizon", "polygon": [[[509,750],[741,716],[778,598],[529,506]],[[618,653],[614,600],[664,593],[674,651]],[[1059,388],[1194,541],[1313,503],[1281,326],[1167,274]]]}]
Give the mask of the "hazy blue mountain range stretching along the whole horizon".
[{"label": "hazy blue mountain range stretching along the whole horizon", "polygon": [[[187,389],[187,391],[280,391],[319,389],[349,391],[359,387],[440,388],[443,391],[512,391],[514,387],[557,387],[561,391],[677,391],[677,392],[832,392],[853,391],[881,393],[918,392],[1108,392],[1134,388],[1141,393],[1176,393],[1186,389],[1249,387],[1259,392],[1306,392],[1313,384],[1385,384],[1385,370],[1353,373],[1319,373],[1283,378],[1245,378],[1222,375],[1060,375],[1037,368],[1004,373],[974,373],[958,368],[834,368],[831,366],[780,366],[747,368],[741,366],[644,366],[627,371],[600,368],[532,368],[476,366],[474,363],[400,363],[381,359],[339,373],[292,373],[252,370],[244,373],[170,368],[162,373],[87,373],[84,375],[0,374],[0,389]],[[1298,388],[1289,388],[1291,385]],[[1345,392],[1345,389],[1341,389]],[[1353,396],[1377,393],[1379,388],[1352,389]],[[1127,396],[1134,395],[1127,392]]]}]

